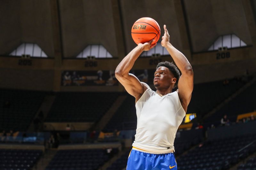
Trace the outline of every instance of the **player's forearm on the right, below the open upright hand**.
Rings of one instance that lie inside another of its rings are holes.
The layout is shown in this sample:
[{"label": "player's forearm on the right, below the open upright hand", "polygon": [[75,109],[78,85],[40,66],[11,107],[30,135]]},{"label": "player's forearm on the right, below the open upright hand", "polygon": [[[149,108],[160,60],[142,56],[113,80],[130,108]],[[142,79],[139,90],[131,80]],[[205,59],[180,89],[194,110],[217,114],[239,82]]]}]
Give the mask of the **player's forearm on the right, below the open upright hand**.
[{"label": "player's forearm on the right, below the open upright hand", "polygon": [[179,50],[172,46],[171,43],[167,43],[165,48],[172,56],[173,61],[180,69],[181,73],[193,73],[192,66],[188,62],[188,59]]}]

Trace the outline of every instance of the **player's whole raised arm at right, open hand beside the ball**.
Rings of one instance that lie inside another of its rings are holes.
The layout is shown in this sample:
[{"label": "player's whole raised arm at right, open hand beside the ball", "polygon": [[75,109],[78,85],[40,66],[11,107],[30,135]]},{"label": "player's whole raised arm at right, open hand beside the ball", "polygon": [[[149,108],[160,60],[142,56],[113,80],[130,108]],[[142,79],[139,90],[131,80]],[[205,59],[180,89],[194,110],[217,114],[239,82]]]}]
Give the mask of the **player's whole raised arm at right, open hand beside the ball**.
[{"label": "player's whole raised arm at right, open hand beside the ball", "polygon": [[170,35],[166,26],[164,25],[164,36],[162,37],[161,45],[167,49],[172,59],[176,63],[177,67],[181,71],[181,76],[178,82],[178,93],[181,100],[182,107],[187,110],[188,104],[191,99],[191,93],[193,91],[193,79],[194,73],[192,66],[188,62],[188,59],[170,43]]}]

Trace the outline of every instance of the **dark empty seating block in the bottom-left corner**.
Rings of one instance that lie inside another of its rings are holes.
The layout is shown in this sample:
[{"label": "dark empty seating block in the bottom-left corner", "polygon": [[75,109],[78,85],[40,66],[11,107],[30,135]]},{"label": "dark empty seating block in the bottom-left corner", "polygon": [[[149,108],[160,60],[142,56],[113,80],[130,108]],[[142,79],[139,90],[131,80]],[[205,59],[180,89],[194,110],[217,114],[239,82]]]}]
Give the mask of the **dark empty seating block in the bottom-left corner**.
[{"label": "dark empty seating block in the bottom-left corner", "polygon": [[0,149],[0,169],[32,169],[41,155],[41,150]]}]

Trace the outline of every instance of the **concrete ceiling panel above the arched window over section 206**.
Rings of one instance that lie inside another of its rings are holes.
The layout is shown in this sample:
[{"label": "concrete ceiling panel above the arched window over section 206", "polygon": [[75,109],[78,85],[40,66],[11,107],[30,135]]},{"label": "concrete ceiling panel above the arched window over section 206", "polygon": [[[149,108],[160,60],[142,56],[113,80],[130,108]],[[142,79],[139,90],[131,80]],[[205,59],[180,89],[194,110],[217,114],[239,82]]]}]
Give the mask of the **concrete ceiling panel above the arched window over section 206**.
[{"label": "concrete ceiling panel above the arched window over section 206", "polygon": [[64,57],[76,57],[89,44],[117,56],[111,1],[62,0],[60,14]]}]

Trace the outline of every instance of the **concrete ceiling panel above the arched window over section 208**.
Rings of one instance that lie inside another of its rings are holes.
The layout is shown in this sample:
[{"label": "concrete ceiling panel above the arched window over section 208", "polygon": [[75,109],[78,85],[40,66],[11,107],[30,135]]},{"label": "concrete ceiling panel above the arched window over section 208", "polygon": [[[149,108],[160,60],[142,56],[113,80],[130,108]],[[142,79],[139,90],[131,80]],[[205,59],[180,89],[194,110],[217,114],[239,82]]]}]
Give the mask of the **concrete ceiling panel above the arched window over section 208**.
[{"label": "concrete ceiling panel above the arched window over section 208", "polygon": [[207,51],[224,34],[252,44],[240,0],[184,0],[193,52]]}]

